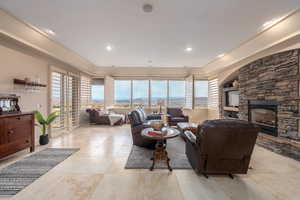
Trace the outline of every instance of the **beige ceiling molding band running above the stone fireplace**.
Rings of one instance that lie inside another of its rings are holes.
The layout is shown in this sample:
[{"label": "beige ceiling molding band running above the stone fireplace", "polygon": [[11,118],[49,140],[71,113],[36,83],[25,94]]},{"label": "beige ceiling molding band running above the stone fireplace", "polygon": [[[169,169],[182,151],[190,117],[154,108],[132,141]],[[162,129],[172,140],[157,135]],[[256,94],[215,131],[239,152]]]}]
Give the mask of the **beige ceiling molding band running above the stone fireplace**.
[{"label": "beige ceiling molding band running above the stone fireplace", "polygon": [[[258,33],[255,37],[247,40],[239,47],[226,53],[222,58],[218,58],[201,69],[208,74],[209,77],[214,77],[225,69],[238,68],[241,65],[247,64],[252,60],[270,53],[272,47],[279,47],[280,44],[292,40],[300,34],[300,9],[289,14],[280,22],[274,24],[270,28]],[[282,47],[282,49],[287,48]],[[273,49],[273,51],[275,48]],[[280,51],[280,49],[276,49]]]}]

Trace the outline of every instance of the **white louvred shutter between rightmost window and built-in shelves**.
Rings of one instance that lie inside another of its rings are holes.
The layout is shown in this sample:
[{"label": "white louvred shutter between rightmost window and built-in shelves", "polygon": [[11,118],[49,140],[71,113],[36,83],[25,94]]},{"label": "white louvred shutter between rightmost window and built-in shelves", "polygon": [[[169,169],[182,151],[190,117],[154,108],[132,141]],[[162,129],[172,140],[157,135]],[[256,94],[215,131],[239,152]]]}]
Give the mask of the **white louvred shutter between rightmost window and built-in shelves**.
[{"label": "white louvred shutter between rightmost window and built-in shelves", "polygon": [[218,79],[208,81],[208,108],[219,109],[219,88]]}]

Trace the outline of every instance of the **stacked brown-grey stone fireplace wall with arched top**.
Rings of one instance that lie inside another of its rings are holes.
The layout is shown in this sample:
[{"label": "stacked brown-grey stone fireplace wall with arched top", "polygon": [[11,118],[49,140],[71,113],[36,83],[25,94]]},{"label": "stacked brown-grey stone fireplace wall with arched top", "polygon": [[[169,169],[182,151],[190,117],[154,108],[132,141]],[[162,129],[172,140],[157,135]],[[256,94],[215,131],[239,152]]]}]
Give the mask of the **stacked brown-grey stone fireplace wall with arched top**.
[{"label": "stacked brown-grey stone fireplace wall with arched top", "polygon": [[[239,118],[260,128],[257,144],[300,160],[300,49],[256,60],[239,69]],[[220,93],[223,93],[220,86]],[[220,115],[224,116],[220,99]]]}]

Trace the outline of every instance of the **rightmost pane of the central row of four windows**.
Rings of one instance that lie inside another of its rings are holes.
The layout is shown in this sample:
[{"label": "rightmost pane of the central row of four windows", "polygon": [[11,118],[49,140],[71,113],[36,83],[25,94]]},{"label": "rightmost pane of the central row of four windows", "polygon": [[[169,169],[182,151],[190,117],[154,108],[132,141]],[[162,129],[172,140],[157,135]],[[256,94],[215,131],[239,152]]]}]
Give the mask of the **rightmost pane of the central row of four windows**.
[{"label": "rightmost pane of the central row of four windows", "polygon": [[169,81],[169,107],[185,106],[185,81]]}]

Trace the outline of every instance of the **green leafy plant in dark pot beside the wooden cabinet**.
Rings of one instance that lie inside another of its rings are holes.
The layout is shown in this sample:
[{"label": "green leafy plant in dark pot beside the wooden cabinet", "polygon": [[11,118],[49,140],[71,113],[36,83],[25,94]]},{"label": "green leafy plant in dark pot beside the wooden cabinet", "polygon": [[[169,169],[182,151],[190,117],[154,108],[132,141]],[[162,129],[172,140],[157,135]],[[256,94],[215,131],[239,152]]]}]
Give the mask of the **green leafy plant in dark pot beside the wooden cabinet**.
[{"label": "green leafy plant in dark pot beside the wooden cabinet", "polygon": [[40,145],[46,145],[49,143],[49,136],[47,134],[47,128],[49,125],[58,117],[57,112],[51,113],[47,119],[43,117],[43,115],[39,112],[35,112],[35,118],[37,119],[39,124],[36,124],[41,128],[41,135],[40,135]]}]

